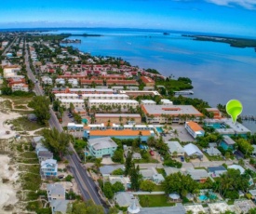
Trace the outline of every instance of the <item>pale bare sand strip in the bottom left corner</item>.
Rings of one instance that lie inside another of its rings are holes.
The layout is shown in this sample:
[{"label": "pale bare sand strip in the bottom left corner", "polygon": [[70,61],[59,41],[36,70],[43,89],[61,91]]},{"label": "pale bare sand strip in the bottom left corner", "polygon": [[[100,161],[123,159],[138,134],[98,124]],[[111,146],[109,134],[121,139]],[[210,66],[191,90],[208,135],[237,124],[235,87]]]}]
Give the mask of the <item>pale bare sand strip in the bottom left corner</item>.
[{"label": "pale bare sand strip in the bottom left corner", "polygon": [[[18,202],[16,190],[13,187],[13,181],[17,181],[18,172],[9,170],[8,163],[10,158],[7,155],[0,154],[0,213],[10,213],[2,210],[4,206],[14,205]],[[3,183],[2,179],[8,179],[7,183]]]}]

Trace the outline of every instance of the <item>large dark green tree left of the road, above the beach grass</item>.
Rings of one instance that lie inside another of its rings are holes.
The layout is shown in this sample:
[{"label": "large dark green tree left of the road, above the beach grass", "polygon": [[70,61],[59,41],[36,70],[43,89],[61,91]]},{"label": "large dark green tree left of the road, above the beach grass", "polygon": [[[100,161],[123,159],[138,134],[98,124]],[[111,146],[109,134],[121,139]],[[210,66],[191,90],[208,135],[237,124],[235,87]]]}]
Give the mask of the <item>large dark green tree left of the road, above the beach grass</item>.
[{"label": "large dark green tree left of the road, above the beach grass", "polygon": [[29,102],[28,106],[34,109],[37,122],[40,124],[46,124],[50,118],[49,103],[49,99],[45,96],[36,96]]}]

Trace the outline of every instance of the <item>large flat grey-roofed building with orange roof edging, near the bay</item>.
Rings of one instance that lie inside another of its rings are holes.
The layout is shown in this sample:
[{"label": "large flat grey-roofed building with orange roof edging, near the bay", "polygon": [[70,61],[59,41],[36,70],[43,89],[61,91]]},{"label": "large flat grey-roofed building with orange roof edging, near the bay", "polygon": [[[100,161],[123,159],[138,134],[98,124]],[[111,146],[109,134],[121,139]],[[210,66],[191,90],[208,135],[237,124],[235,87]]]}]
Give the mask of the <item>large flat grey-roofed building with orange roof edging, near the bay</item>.
[{"label": "large flat grey-roofed building with orange roof edging, near the bay", "polygon": [[203,114],[192,105],[141,105],[147,123],[164,124],[194,120],[198,122]]}]

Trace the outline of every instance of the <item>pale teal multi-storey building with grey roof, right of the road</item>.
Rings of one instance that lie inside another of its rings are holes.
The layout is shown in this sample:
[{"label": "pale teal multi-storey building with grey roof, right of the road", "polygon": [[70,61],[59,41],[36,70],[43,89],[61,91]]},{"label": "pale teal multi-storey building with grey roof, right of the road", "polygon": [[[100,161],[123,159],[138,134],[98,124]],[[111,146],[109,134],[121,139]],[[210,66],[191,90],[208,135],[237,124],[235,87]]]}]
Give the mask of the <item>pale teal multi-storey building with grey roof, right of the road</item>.
[{"label": "pale teal multi-storey building with grey roof, right of the road", "polygon": [[116,149],[117,144],[110,137],[88,140],[88,151],[96,158],[106,155],[113,156]]}]

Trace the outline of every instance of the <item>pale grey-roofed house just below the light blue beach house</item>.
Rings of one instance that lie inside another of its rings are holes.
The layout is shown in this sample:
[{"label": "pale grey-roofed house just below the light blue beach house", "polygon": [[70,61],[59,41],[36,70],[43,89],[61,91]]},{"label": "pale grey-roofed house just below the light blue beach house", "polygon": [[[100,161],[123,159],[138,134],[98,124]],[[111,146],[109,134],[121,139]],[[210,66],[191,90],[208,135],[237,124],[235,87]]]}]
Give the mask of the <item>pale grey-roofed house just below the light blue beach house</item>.
[{"label": "pale grey-roofed house just below the light blue beach house", "polygon": [[50,183],[47,184],[47,198],[51,202],[57,199],[65,199],[65,189],[59,183]]}]

